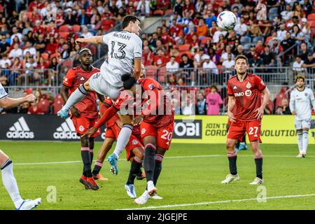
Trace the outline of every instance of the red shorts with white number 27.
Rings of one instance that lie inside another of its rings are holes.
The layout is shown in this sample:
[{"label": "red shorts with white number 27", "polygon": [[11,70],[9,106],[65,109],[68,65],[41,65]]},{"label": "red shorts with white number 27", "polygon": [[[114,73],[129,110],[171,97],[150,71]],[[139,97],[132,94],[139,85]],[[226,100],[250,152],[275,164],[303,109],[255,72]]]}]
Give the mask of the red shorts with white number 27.
[{"label": "red shorts with white number 27", "polygon": [[228,139],[237,139],[241,141],[244,137],[245,132],[248,134],[249,141],[258,140],[260,143],[262,142],[260,139],[260,120],[251,120],[251,121],[237,121],[236,123],[231,123]]}]

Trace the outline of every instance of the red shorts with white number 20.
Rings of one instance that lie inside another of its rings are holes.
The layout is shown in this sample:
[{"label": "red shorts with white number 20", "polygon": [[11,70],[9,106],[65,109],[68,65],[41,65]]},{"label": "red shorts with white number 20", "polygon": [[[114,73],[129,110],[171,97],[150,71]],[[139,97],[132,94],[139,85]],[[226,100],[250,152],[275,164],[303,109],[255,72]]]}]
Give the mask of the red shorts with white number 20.
[{"label": "red shorts with white number 20", "polygon": [[172,124],[166,127],[155,127],[151,123],[141,122],[141,139],[147,136],[154,136],[156,138],[156,146],[164,150],[169,150],[171,146],[173,131],[174,131],[174,121]]}]

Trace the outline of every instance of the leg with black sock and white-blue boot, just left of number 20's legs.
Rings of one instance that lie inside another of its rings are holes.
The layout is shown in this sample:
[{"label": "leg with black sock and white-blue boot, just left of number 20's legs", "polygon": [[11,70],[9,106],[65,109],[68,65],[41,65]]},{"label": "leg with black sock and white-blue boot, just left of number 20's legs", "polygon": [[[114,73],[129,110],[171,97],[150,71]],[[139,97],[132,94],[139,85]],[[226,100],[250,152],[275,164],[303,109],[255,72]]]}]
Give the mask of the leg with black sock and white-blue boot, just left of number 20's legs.
[{"label": "leg with black sock and white-blue boot, just left of number 20's legs", "polygon": [[131,162],[127,183],[125,184],[125,190],[127,191],[128,196],[136,198],[137,194],[134,189],[134,179],[136,178],[139,169],[141,169],[142,162],[144,160],[144,146],[142,146],[137,138],[132,138],[133,136],[130,138],[130,141],[132,142],[129,142],[126,147],[127,160],[130,160],[130,157],[133,157],[133,160]]}]

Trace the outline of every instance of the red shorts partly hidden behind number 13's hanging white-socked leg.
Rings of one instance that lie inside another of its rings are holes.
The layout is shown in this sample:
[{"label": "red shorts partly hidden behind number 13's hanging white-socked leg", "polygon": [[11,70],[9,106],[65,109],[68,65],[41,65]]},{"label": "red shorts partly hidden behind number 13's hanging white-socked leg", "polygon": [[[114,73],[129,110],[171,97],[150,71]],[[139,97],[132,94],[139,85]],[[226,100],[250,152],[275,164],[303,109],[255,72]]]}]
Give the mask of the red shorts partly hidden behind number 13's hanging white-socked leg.
[{"label": "red shorts partly hidden behind number 13's hanging white-socked leg", "polygon": [[[115,123],[115,125],[106,128],[105,137],[117,140],[119,132],[120,132],[120,127]],[[129,161],[130,158],[134,157],[134,153],[132,153],[132,151],[134,150],[134,148],[138,148],[138,147],[144,148],[141,141],[139,141],[139,138],[135,137],[132,134],[129,138],[129,141],[128,141],[126,147],[125,147],[126,154],[127,154],[127,156],[126,156],[127,161]]]}]

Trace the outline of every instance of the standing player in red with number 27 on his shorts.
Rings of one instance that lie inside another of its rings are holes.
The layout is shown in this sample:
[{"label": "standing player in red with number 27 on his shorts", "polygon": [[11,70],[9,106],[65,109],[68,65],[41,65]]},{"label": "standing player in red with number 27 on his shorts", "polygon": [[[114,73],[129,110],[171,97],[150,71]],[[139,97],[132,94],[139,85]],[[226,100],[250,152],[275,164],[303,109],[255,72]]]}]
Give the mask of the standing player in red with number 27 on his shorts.
[{"label": "standing player in red with number 27 on his shorts", "polygon": [[[235,58],[237,75],[228,80],[228,116],[231,126],[228,132],[226,148],[230,166],[230,174],[221,183],[231,183],[239,180],[237,174],[237,153],[235,144],[241,141],[247,132],[253,150],[256,177],[251,184],[261,184],[262,151],[260,151],[260,127],[262,114],[269,101],[269,90],[259,76],[247,72],[248,59],[244,55]],[[263,101],[261,102],[261,95]]]}]

